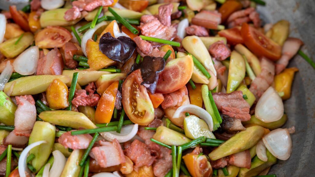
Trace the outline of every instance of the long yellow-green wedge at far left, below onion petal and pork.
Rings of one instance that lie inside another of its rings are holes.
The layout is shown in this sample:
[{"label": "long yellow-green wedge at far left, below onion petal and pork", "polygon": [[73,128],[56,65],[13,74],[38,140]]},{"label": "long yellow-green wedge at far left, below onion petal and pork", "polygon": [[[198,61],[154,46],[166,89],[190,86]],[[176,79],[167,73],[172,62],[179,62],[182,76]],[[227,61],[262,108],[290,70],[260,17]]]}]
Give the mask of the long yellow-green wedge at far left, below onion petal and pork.
[{"label": "long yellow-green wedge at far left, below onion petal and pork", "polygon": [[46,91],[54,79],[63,83],[71,82],[71,79],[64,75],[26,76],[6,83],[3,91],[10,96],[39,94]]}]

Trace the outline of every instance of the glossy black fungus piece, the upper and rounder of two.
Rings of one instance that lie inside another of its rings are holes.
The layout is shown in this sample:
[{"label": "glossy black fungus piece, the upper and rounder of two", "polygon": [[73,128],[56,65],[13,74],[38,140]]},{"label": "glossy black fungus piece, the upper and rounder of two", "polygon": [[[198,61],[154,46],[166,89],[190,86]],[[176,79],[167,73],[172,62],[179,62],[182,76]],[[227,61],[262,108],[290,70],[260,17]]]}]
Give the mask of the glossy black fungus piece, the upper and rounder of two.
[{"label": "glossy black fungus piece, the upper and rounder of two", "polygon": [[109,59],[121,63],[126,62],[135,52],[137,44],[129,37],[112,37],[110,32],[100,38],[100,51]]}]

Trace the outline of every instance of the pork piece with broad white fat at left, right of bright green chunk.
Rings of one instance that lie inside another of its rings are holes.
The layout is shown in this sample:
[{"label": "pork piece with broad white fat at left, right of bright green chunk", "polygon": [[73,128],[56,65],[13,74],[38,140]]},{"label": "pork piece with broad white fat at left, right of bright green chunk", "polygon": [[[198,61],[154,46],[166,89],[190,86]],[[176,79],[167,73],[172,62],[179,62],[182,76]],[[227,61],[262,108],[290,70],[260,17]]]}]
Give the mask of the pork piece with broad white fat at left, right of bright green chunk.
[{"label": "pork piece with broad white fat at left, right of bright green chunk", "polygon": [[18,108],[14,113],[14,133],[29,137],[36,122],[35,100],[32,95],[16,96]]}]

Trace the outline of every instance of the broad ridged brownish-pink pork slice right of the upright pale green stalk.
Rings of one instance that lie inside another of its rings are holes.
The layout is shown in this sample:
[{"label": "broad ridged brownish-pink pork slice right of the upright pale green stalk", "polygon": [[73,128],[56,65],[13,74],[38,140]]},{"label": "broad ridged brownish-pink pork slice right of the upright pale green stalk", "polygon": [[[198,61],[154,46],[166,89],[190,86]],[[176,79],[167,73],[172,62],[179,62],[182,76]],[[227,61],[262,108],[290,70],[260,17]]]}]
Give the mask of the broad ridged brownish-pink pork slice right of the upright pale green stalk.
[{"label": "broad ridged brownish-pink pork slice right of the upright pale green stalk", "polygon": [[230,94],[213,93],[213,99],[218,110],[222,114],[235,117],[240,121],[249,121],[249,104],[244,100],[242,91],[234,91]]}]

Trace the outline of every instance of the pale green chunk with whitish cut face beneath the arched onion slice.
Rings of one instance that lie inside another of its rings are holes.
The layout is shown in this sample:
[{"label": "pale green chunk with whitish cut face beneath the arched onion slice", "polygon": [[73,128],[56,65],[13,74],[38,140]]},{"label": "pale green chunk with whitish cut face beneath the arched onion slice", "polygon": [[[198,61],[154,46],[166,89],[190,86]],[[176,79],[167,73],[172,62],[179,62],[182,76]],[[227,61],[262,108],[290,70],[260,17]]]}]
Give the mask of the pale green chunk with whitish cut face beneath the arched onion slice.
[{"label": "pale green chunk with whitish cut face beneath the arched onion slice", "polygon": [[194,115],[184,119],[185,135],[191,139],[197,139],[201,136],[215,139],[215,135],[209,130],[208,124]]}]

